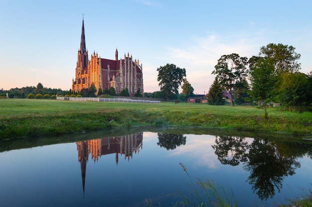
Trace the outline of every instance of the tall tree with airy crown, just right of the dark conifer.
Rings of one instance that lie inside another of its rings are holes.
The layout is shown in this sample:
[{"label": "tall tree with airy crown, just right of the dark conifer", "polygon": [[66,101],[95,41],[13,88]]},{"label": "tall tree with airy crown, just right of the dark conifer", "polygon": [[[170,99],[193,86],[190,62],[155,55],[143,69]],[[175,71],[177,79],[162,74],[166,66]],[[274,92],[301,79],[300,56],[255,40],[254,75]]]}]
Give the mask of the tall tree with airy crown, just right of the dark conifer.
[{"label": "tall tree with airy crown, just right of the dark conifer", "polygon": [[217,81],[221,87],[226,89],[232,96],[231,106],[234,106],[234,97],[236,92],[236,83],[246,77],[246,57],[240,57],[238,54],[223,55],[218,60],[212,74],[216,74]]}]

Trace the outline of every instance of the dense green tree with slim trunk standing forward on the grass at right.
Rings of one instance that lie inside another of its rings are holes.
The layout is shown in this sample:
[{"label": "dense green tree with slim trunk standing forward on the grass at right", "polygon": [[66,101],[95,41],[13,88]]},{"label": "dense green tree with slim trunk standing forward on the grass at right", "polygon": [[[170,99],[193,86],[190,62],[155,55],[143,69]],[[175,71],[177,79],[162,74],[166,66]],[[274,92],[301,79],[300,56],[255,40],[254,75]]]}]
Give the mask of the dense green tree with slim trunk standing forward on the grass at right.
[{"label": "dense green tree with slim trunk standing forward on the grass at right", "polygon": [[266,106],[271,101],[276,82],[274,64],[268,58],[261,57],[252,57],[249,62],[250,94],[255,101],[263,103],[265,118],[267,118]]}]

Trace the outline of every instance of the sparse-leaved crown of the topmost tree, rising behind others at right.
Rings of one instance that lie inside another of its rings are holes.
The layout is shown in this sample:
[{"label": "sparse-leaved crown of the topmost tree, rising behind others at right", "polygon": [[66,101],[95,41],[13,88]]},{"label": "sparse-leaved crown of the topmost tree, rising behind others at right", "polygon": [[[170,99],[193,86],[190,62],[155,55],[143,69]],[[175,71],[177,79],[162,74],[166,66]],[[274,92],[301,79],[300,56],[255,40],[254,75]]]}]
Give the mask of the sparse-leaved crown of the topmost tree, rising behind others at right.
[{"label": "sparse-leaved crown of the topmost tree, rising behind others at right", "polygon": [[272,61],[276,75],[283,72],[298,72],[301,68],[297,60],[301,55],[296,53],[295,49],[293,46],[270,43],[260,49],[259,56],[267,57]]}]

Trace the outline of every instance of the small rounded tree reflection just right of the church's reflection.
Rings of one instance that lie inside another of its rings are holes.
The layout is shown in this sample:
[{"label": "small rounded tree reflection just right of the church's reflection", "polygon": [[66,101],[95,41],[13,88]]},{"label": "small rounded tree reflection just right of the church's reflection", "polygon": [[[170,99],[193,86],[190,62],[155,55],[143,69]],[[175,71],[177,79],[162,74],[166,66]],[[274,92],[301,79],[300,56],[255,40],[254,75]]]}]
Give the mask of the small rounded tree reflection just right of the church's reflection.
[{"label": "small rounded tree reflection just right of the church's reflection", "polygon": [[181,144],[185,145],[186,136],[170,133],[157,133],[158,142],[157,145],[164,147],[165,149],[175,149]]}]

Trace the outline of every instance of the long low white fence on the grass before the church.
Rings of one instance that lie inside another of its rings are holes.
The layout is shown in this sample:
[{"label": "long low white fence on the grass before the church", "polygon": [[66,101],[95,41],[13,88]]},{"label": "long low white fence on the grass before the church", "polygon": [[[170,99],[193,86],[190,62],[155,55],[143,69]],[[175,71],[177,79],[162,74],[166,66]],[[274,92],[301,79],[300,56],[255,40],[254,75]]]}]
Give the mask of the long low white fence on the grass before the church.
[{"label": "long low white fence on the grass before the church", "polygon": [[97,102],[122,102],[122,103],[160,103],[160,101],[135,100],[130,98],[91,98],[91,97],[57,97],[57,100],[68,101],[97,101]]}]

